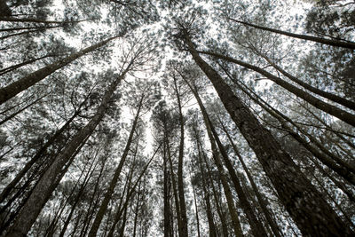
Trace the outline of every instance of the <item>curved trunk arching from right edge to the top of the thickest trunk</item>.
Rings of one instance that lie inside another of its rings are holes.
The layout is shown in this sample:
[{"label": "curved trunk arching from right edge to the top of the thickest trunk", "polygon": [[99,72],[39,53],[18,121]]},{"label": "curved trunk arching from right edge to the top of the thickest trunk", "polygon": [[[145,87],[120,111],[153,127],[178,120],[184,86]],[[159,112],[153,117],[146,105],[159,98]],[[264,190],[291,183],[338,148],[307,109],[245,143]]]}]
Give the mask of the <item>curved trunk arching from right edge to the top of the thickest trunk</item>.
[{"label": "curved trunk arching from right edge to the top of the thickest trunk", "polygon": [[271,73],[265,71],[264,69],[262,69],[260,67],[256,67],[256,66],[248,64],[246,62],[243,62],[241,60],[233,59],[231,57],[227,57],[225,55],[214,53],[214,52],[209,52],[209,51],[195,51],[195,52],[196,52],[196,54],[201,52],[203,54],[217,57],[218,59],[225,59],[227,61],[238,64],[242,67],[247,67],[248,69],[254,70],[257,73],[266,76],[269,80],[271,80],[274,83],[277,83],[278,85],[280,85],[281,87],[283,87],[287,91],[295,94],[297,97],[304,99],[305,101],[310,103],[313,107],[316,107],[316,108],[326,112],[329,115],[333,115],[333,116],[337,117],[338,119],[342,120],[343,122],[347,122],[351,126],[355,127],[355,115],[352,115],[339,107],[332,106],[332,105],[312,96],[312,94],[297,88],[293,84],[282,80],[280,77],[278,77],[276,75],[272,75]]}]

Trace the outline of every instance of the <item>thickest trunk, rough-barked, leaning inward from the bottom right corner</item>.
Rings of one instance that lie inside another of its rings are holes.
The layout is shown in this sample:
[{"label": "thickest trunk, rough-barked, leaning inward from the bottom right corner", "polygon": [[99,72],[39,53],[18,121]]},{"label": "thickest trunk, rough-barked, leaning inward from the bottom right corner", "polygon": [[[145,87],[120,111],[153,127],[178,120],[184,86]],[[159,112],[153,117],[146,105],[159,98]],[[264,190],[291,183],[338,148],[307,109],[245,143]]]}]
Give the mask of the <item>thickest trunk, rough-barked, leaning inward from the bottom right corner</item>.
[{"label": "thickest trunk, rough-barked, leaning inward from the bottom right corner", "polygon": [[289,154],[283,151],[280,144],[272,137],[270,131],[264,129],[217,71],[201,59],[188,35],[185,35],[185,42],[193,60],[214,85],[229,115],[247,139],[248,145],[254,150],[265,173],[272,180],[281,203],[301,232],[304,235],[351,235],[351,229],[343,224],[342,219],[327,204],[312,183],[304,177]]}]

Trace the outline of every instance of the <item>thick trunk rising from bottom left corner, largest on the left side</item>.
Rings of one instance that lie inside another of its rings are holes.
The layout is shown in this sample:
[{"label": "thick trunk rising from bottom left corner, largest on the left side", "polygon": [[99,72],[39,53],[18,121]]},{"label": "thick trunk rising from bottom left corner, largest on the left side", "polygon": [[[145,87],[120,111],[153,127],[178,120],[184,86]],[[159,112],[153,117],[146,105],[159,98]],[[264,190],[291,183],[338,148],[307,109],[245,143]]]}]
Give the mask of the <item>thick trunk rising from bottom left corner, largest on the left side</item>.
[{"label": "thick trunk rising from bottom left corner, largest on the left side", "polygon": [[20,213],[15,220],[12,228],[7,237],[15,236],[26,236],[29,229],[36,221],[36,217],[39,215],[43,209],[44,204],[51,197],[51,193],[54,191],[59,181],[59,174],[61,173],[63,167],[71,158],[72,154],[75,154],[76,149],[86,138],[90,137],[92,131],[96,128],[99,122],[102,120],[106,113],[106,108],[108,107],[109,101],[112,98],[114,91],[124,77],[124,75],[129,71],[127,67],[122,75],[118,76],[114,80],[114,83],[110,85],[106,91],[101,105],[98,107],[96,114],[91,118],[91,121],[88,122],[82,130],[79,130],[74,138],[70,140],[67,146],[64,148],[61,154],[51,163],[51,166],[46,170],[43,176],[40,178],[34,191],[29,196],[28,201],[25,203],[24,207],[20,210]]}]

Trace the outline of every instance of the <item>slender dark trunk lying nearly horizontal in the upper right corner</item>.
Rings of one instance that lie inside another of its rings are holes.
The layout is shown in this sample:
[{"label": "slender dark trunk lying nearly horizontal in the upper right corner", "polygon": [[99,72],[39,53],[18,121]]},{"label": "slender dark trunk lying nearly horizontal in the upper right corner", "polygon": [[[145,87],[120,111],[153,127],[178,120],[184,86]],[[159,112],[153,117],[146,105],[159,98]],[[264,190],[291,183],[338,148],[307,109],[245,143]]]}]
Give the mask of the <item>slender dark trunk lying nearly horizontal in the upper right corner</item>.
[{"label": "slender dark trunk lying nearly horizontal in the upper right corner", "polygon": [[248,27],[258,28],[258,29],[270,31],[270,32],[277,33],[277,34],[280,34],[280,35],[283,35],[283,36],[290,36],[290,37],[297,38],[297,39],[309,40],[309,41],[313,41],[313,42],[317,42],[317,43],[323,43],[323,44],[336,46],[336,47],[355,49],[355,43],[352,43],[352,42],[343,42],[343,41],[338,41],[338,40],[320,38],[320,37],[317,37],[317,36],[307,36],[307,35],[300,35],[300,34],[290,33],[290,32],[287,32],[287,31],[280,30],[280,29],[265,28],[265,27],[261,27],[261,26],[257,26],[257,25],[245,22],[245,21],[234,20],[232,18],[228,18],[228,20],[233,20],[235,22],[241,23],[241,24],[243,24],[245,26],[248,26]]}]

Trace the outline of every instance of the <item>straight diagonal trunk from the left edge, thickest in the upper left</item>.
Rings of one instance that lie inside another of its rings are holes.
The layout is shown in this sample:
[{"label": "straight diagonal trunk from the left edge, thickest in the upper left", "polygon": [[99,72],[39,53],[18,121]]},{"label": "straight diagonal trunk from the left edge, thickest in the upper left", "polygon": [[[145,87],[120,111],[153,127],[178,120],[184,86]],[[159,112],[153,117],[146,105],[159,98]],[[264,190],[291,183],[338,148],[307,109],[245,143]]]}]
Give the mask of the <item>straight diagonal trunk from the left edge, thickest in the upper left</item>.
[{"label": "straight diagonal trunk from the left edge, thickest in the upper left", "polygon": [[65,67],[67,64],[71,63],[75,59],[78,59],[82,57],[84,54],[89,53],[91,51],[95,51],[105,45],[106,43],[120,37],[119,36],[114,36],[110,37],[104,41],[101,41],[100,43],[96,43],[94,45],[91,45],[90,47],[87,47],[83,49],[82,51],[77,51],[75,53],[72,53],[71,55],[67,56],[64,59],[60,59],[57,62],[54,62],[48,66],[42,67],[41,69],[36,70],[36,72],[31,73],[30,75],[27,75],[25,77],[22,77],[20,80],[11,83],[3,88],[0,88],[0,105],[3,104],[5,101],[8,99],[12,99],[14,96],[19,94],[21,91],[25,91],[32,85],[40,82],[43,80],[45,77],[48,75],[51,75],[53,72],[58,70],[61,67]]}]

